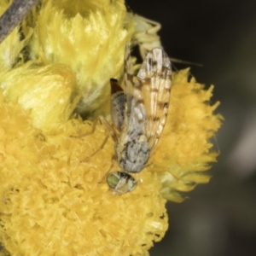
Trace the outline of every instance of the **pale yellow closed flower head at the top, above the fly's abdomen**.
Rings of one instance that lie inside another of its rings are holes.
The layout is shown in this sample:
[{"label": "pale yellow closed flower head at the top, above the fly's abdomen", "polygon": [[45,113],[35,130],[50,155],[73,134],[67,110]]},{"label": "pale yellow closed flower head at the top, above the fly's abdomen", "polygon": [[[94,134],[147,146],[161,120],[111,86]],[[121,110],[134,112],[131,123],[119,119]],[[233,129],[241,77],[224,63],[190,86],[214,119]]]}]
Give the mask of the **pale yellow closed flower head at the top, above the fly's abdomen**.
[{"label": "pale yellow closed flower head at the top, above the fly's abdomen", "polygon": [[125,23],[124,1],[44,2],[35,15],[32,59],[73,69],[82,95],[77,112],[84,118],[108,114],[107,84],[109,78],[119,79],[124,45],[133,32],[133,25]]}]

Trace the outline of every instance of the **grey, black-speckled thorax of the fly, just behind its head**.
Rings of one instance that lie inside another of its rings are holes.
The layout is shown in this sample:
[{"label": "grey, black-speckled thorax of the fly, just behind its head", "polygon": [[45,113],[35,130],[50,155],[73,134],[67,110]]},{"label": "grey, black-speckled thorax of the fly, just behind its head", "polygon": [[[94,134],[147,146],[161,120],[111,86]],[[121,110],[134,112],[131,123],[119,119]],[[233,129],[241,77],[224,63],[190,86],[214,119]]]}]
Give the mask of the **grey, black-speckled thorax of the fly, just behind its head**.
[{"label": "grey, black-speckled thorax of the fly, just behind its head", "polygon": [[125,143],[119,155],[119,166],[125,172],[141,172],[148,162],[150,149],[144,135]]}]

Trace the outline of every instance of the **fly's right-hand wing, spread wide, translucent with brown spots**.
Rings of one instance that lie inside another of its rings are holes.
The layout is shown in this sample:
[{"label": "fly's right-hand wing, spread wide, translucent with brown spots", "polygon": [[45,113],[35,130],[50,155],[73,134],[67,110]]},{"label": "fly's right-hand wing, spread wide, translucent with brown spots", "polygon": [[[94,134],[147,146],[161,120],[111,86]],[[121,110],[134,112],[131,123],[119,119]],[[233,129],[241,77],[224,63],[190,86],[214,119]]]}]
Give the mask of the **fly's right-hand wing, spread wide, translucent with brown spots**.
[{"label": "fly's right-hand wing, spread wide, translucent with brown spots", "polygon": [[163,49],[154,48],[148,52],[135,83],[136,90],[141,91],[146,108],[146,137],[150,149],[158,143],[166,124],[171,86],[172,69],[169,57]]}]

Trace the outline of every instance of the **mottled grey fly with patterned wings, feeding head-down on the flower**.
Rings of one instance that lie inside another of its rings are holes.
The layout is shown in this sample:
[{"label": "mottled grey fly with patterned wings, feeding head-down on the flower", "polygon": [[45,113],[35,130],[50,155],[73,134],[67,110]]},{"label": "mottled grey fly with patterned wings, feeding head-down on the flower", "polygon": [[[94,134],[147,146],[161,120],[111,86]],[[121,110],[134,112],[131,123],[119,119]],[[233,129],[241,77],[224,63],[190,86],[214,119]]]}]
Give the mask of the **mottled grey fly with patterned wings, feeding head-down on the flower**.
[{"label": "mottled grey fly with patterned wings, feeding head-down on the flower", "polygon": [[154,48],[133,75],[129,45],[125,48],[125,91],[111,79],[113,125],[119,131],[115,153],[122,172],[108,174],[108,185],[122,194],[136,188],[129,172],[141,172],[166,124],[172,85],[171,63],[166,52]]}]

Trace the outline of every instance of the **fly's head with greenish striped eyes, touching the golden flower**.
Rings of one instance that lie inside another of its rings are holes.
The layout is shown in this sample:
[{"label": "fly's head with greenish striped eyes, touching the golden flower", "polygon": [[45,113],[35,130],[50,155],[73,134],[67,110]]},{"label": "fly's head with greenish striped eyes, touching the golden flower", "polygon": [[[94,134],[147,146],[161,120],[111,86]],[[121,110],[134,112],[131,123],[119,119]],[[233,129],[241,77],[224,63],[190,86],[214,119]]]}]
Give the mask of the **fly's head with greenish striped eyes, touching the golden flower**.
[{"label": "fly's head with greenish striped eyes, touching the golden flower", "polygon": [[137,180],[126,172],[111,172],[107,177],[108,186],[117,194],[131,192],[137,187]]}]

